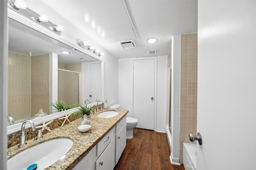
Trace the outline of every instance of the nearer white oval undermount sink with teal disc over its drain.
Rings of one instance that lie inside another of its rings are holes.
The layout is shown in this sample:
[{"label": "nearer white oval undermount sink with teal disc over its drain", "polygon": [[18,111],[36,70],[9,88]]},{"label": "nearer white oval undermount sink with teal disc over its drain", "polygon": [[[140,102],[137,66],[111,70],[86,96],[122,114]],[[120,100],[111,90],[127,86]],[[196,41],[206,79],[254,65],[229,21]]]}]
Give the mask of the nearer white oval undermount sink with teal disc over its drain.
[{"label": "nearer white oval undermount sink with teal disc over its drain", "polygon": [[43,170],[65,156],[72,145],[68,138],[40,143],[7,160],[7,170],[26,170],[32,164],[37,164],[36,170]]}]

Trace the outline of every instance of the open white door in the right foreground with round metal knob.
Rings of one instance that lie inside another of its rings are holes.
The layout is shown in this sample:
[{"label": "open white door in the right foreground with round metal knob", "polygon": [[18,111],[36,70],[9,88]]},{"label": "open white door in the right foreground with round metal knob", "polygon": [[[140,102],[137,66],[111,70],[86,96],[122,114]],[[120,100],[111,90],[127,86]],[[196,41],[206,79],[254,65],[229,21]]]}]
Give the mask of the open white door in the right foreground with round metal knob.
[{"label": "open white door in the right foreground with round metal knob", "polygon": [[198,1],[197,170],[256,170],[256,1]]}]

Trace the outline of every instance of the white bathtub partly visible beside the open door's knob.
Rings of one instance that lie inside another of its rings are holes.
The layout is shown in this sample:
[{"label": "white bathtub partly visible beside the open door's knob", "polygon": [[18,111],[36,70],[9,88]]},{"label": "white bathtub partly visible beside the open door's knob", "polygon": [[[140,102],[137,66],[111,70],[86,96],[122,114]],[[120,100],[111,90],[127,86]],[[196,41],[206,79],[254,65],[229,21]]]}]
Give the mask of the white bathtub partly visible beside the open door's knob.
[{"label": "white bathtub partly visible beside the open door's knob", "polygon": [[185,170],[196,170],[196,144],[183,143],[183,165]]}]

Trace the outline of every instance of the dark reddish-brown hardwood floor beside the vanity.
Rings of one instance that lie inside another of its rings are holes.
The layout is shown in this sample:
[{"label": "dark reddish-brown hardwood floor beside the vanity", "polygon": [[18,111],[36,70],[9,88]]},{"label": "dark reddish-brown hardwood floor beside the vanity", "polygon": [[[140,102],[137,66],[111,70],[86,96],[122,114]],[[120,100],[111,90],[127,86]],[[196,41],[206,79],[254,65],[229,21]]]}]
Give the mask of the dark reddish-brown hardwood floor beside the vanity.
[{"label": "dark reddish-brown hardwood floor beside the vanity", "polygon": [[183,165],[172,165],[169,157],[166,133],[134,128],[114,170],[185,170]]}]

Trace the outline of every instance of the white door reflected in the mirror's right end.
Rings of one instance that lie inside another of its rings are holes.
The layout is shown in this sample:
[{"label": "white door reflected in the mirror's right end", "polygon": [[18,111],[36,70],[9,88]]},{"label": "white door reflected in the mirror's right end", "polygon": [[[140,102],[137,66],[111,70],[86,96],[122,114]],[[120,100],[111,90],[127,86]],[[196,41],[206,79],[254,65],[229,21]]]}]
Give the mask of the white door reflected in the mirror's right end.
[{"label": "white door reflected in the mirror's right end", "polygon": [[101,63],[89,64],[89,96],[90,101],[102,100],[102,79],[101,79]]}]

